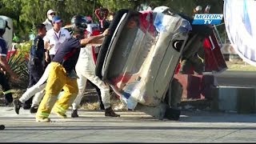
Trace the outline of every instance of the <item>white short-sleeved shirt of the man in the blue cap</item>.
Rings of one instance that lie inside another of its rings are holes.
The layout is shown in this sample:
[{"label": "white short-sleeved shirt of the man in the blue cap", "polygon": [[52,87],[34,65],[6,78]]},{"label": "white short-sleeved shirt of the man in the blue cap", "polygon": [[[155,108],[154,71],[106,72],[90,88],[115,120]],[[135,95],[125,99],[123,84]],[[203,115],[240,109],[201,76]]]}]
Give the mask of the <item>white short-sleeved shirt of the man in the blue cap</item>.
[{"label": "white short-sleeved shirt of the man in the blue cap", "polygon": [[49,50],[49,54],[56,54],[60,45],[67,39],[70,38],[70,33],[68,30],[61,28],[61,30],[54,31],[54,28],[46,32],[46,36],[43,38],[45,42],[49,42],[50,45],[53,45]]}]

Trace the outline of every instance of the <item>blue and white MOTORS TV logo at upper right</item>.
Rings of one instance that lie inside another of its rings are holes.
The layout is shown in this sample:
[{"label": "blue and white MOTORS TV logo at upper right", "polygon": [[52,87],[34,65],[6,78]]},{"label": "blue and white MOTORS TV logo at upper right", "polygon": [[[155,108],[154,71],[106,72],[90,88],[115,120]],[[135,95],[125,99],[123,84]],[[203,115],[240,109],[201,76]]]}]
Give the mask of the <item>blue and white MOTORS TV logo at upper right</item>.
[{"label": "blue and white MOTORS TV logo at upper right", "polygon": [[218,25],[222,22],[223,14],[195,14],[193,25]]}]

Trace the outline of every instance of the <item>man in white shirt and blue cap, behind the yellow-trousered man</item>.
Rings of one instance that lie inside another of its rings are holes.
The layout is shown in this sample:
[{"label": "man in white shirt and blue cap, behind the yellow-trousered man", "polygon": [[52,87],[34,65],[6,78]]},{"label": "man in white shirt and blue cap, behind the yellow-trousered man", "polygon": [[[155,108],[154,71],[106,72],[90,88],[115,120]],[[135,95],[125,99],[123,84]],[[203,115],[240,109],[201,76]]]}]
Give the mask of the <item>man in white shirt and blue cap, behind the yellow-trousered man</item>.
[{"label": "man in white shirt and blue cap, behind the yellow-trousered man", "polygon": [[56,54],[59,46],[67,39],[70,38],[68,30],[62,28],[62,19],[58,16],[54,16],[53,28],[48,30],[46,36],[43,38],[45,42],[46,50],[49,50],[50,58],[46,54],[46,62],[50,62]]}]

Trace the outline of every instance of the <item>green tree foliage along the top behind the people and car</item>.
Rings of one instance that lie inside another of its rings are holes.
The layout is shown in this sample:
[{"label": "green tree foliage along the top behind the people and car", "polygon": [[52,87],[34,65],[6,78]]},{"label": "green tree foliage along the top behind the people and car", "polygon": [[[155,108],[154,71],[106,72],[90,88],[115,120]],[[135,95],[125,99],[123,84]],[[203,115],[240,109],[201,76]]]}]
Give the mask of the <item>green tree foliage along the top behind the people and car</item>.
[{"label": "green tree foliage along the top behind the people and car", "polygon": [[57,11],[65,26],[75,14],[91,16],[98,22],[94,10],[99,7],[115,12],[124,8],[137,10],[141,4],[152,8],[169,6],[174,11],[187,15],[191,15],[197,5],[205,8],[210,4],[210,13],[219,14],[223,9],[223,0],[1,0],[0,14],[13,18],[14,33],[23,40],[28,40],[30,30],[46,20],[46,12],[50,9]]}]

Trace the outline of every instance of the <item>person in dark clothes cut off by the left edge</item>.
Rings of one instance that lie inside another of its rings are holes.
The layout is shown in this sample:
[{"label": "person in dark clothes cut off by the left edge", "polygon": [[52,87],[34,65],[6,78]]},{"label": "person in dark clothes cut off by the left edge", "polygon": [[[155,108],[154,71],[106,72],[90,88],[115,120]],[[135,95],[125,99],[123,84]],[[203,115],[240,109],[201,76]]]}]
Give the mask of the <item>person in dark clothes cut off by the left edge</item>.
[{"label": "person in dark clothes cut off by the left edge", "polygon": [[[10,90],[10,84],[8,78],[6,77],[6,73],[10,74],[10,80],[13,82],[18,81],[18,76],[14,74],[14,71],[10,69],[10,66],[7,62],[6,56],[8,52],[7,42],[2,38],[3,34],[6,32],[6,28],[8,26],[8,22],[6,20],[0,18],[0,85],[2,86],[3,91]],[[6,106],[13,102],[13,96],[11,93],[4,94],[5,95],[5,103]]]}]

